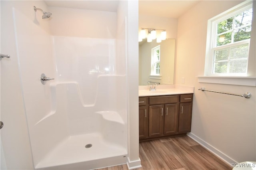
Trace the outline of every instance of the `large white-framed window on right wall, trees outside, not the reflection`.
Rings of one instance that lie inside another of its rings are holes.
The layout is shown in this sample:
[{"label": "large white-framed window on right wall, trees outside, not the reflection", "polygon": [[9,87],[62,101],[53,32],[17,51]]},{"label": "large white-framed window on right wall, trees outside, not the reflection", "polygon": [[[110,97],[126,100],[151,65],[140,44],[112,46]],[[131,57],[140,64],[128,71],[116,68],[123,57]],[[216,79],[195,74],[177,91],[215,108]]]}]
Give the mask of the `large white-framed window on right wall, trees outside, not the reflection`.
[{"label": "large white-framed window on right wall, trees outside, not the reflection", "polygon": [[208,20],[205,75],[246,76],[252,2]]}]

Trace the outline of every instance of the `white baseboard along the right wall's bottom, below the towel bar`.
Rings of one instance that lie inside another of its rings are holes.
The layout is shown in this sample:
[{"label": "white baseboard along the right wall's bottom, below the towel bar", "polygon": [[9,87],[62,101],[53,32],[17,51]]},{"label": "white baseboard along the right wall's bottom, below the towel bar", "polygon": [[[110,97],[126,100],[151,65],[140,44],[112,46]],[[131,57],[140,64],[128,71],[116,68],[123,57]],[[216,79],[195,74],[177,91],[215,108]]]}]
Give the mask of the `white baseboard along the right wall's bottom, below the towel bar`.
[{"label": "white baseboard along the right wall's bottom, below the towel bar", "polygon": [[228,165],[231,165],[232,163],[238,163],[237,161],[233,160],[232,158],[230,158],[226,154],[222,153],[220,150],[214,148],[214,146],[208,144],[207,142],[205,142],[204,140],[202,140],[198,136],[194,135],[193,133],[191,133],[191,132],[187,133],[187,136],[192,138],[196,142],[198,142],[200,145],[202,145],[204,148],[206,148],[207,150],[212,152],[212,154],[214,154],[215,156],[217,156],[218,158],[220,158],[221,160],[226,162]]}]

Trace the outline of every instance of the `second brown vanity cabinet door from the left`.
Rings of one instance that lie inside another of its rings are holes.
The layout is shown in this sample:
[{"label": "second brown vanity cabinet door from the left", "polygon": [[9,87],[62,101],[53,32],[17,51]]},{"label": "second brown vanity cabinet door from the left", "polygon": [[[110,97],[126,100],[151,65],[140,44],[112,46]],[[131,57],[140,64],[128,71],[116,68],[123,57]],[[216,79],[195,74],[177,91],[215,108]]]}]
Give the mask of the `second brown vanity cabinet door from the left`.
[{"label": "second brown vanity cabinet door from the left", "polygon": [[164,105],[149,106],[148,136],[162,136],[164,130]]}]

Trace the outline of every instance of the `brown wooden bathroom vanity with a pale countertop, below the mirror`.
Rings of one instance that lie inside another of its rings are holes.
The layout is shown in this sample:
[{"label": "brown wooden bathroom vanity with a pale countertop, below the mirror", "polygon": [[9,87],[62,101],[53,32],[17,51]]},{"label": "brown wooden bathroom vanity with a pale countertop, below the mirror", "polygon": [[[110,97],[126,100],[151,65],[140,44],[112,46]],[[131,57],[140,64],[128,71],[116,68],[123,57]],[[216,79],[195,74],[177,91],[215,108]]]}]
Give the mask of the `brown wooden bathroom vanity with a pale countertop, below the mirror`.
[{"label": "brown wooden bathroom vanity with a pale countertop, below the mirror", "polygon": [[140,141],[190,132],[193,91],[176,88],[140,90]]}]

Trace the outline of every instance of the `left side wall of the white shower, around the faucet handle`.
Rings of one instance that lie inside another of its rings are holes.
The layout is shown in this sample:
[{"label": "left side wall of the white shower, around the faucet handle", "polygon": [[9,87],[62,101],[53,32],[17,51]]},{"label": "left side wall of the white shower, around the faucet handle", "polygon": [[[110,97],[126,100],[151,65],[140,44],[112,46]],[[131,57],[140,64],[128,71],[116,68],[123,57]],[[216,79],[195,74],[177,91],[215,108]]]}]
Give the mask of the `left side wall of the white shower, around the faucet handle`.
[{"label": "left side wall of the white shower, around the faucet handle", "polygon": [[[24,106],[36,164],[58,142],[68,136],[68,126],[65,116],[53,114],[54,101],[51,98],[50,83],[43,85],[40,81],[42,73],[52,78],[56,75],[52,38],[35,24],[38,23],[37,18],[30,20],[15,8],[13,14]],[[63,111],[62,115],[65,115],[65,110]],[[45,119],[46,117],[48,119]],[[48,138],[51,140],[47,140]]]}]

